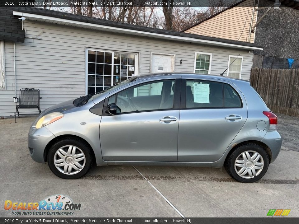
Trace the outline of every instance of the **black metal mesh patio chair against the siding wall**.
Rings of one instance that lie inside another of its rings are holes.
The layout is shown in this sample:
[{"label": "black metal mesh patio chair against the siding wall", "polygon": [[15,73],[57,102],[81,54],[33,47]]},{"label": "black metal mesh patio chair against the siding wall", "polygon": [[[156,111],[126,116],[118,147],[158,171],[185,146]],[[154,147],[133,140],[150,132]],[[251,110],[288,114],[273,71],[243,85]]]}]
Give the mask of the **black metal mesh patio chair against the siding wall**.
[{"label": "black metal mesh patio chair against the siding wall", "polygon": [[[20,89],[20,97],[13,97],[16,99],[16,113],[15,113],[15,122],[17,123],[17,113],[18,117],[20,118],[19,109],[38,109],[40,114],[40,90],[39,89],[33,89],[33,88],[26,88],[26,89]],[[17,99],[19,100],[19,105],[17,105]],[[21,115],[29,115],[27,114],[21,114]],[[30,114],[33,115],[33,114]]]}]

